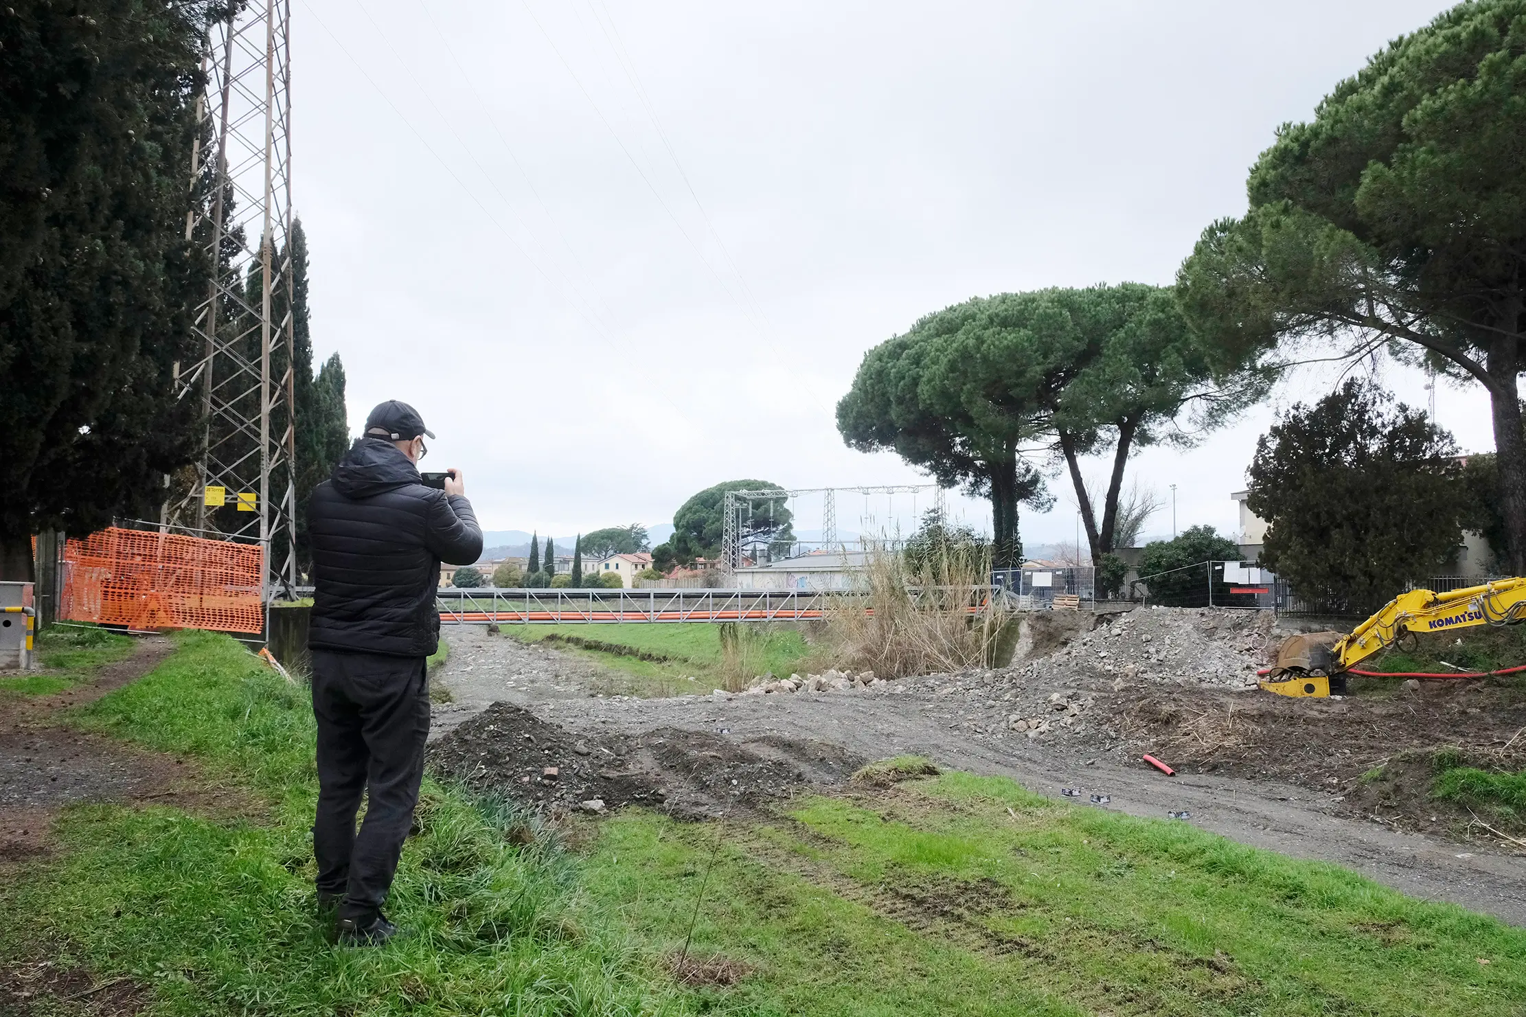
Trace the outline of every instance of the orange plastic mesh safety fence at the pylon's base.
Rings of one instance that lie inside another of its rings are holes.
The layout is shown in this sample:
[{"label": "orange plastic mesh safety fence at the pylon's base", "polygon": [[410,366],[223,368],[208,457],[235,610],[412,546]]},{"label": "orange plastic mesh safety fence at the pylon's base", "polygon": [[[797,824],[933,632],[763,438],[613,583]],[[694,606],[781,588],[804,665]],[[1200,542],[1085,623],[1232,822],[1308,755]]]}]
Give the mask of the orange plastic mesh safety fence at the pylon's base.
[{"label": "orange plastic mesh safety fence at the pylon's base", "polygon": [[58,616],[128,628],[264,628],[258,544],[102,529],[64,544]]}]

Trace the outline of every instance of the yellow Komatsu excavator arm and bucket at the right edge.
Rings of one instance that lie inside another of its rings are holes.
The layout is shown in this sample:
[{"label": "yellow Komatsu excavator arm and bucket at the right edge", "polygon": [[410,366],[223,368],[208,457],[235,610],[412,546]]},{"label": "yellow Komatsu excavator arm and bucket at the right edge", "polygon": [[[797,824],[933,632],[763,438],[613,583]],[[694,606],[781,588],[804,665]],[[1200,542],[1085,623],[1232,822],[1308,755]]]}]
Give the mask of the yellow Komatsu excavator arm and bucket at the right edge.
[{"label": "yellow Komatsu excavator arm and bucket at the right edge", "polygon": [[[1500,579],[1463,590],[1410,590],[1389,601],[1349,633],[1302,633],[1277,648],[1277,663],[1260,671],[1260,688],[1279,695],[1341,695],[1346,675],[1376,675],[1357,665],[1399,642],[1405,633],[1441,633],[1473,625],[1526,621],[1526,579]],[[1526,671],[1511,668],[1509,671]],[[1474,672],[1407,677],[1459,679]],[[1474,677],[1500,672],[1477,672]]]}]

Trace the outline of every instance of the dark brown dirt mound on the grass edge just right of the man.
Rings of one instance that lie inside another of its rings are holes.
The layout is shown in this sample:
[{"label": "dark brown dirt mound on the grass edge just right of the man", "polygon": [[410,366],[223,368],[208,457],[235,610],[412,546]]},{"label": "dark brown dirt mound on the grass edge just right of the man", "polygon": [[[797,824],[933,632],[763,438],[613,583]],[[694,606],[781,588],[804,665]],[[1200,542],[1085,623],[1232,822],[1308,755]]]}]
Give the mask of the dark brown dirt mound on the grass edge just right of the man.
[{"label": "dark brown dirt mound on the grass edge just right of the man", "polygon": [[842,784],[862,765],[827,743],[772,736],[739,743],[726,735],[659,727],[636,736],[580,738],[530,711],[494,703],[432,744],[427,759],[447,779],[542,811],[649,805],[685,819]]}]

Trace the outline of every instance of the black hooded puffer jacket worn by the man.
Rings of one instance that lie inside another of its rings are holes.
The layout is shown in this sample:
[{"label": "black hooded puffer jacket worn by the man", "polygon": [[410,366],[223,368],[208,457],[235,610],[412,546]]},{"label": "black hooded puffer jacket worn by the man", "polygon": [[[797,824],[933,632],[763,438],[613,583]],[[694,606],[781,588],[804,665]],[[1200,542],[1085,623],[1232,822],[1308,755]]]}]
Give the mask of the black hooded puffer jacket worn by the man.
[{"label": "black hooded puffer jacket worn by the man", "polygon": [[472,503],[426,488],[392,442],[362,438],[313,488],[314,650],[427,657],[439,645],[439,563],[472,564],[482,531]]}]

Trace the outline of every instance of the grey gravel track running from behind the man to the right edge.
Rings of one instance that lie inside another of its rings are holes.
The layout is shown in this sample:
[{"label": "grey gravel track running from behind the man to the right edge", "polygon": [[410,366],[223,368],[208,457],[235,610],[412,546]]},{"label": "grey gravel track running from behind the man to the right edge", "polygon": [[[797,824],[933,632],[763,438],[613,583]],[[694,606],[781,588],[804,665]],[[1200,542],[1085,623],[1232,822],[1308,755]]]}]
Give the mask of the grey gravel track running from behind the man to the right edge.
[{"label": "grey gravel track running from behind the man to the right edge", "polygon": [[[726,727],[737,739],[765,735],[816,739],[870,758],[914,752],[948,767],[1010,776],[1051,797],[1059,797],[1061,788],[1108,794],[1108,808],[1134,816],[1189,811],[1193,825],[1241,843],[1296,858],[1335,861],[1412,897],[1451,901],[1526,926],[1526,857],[1347,819],[1335,814],[1332,794],[1273,781],[1167,778],[1144,764],[1108,758],[1088,765],[1090,756],[1061,746],[1025,738],[996,741],[960,730],[949,723],[954,720],[951,703],[923,691],[670,700],[591,698],[584,691],[575,697],[569,682],[574,665],[588,668],[581,660],[569,659],[572,663],[563,671],[554,657],[568,654],[554,650],[536,650],[534,657],[523,657],[523,648],[508,637],[487,642],[481,634],[449,630],[447,639],[453,646],[452,660],[441,680],[452,691],[458,685],[462,691],[470,689],[470,704],[459,701],[444,707],[455,723],[485,709],[497,688],[502,689],[497,698],[526,706],[574,732],[638,735],[667,726],[714,733]],[[456,672],[464,666],[455,656],[458,639],[462,648],[472,645],[472,653],[459,657],[470,660],[470,672]],[[537,679],[537,672],[548,677]]]}]

